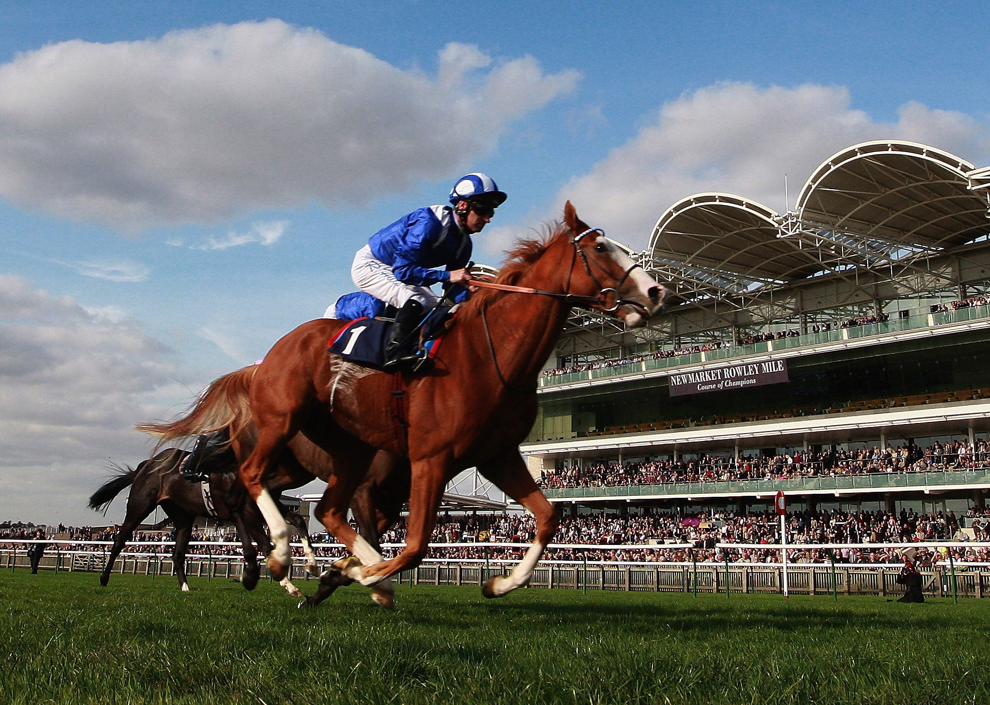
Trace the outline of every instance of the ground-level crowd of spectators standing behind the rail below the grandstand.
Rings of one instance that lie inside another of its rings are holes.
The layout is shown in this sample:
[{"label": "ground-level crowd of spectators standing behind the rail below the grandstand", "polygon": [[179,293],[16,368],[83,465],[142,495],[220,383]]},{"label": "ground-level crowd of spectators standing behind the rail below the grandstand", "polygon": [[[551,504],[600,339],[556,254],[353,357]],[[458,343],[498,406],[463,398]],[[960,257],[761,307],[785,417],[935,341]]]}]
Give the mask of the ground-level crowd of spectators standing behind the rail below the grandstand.
[{"label": "ground-level crowd of spectators standing behind the rail below the grandstand", "polygon": [[[990,513],[972,510],[966,517],[916,514],[908,509],[899,514],[876,511],[794,512],[787,516],[787,543],[794,550],[788,553],[791,562],[888,563],[899,562],[897,549],[847,548],[830,554],[815,549],[816,544],[884,544],[936,541],[990,542]],[[964,528],[968,531],[960,531]],[[402,544],[406,527],[400,523],[383,538],[383,544]],[[450,559],[520,559],[526,553],[521,547],[480,547],[477,544],[530,544],[536,537],[536,523],[529,514],[491,514],[446,516],[438,521],[431,540],[433,544],[459,544],[456,547],[435,547],[430,557]],[[314,538],[317,543],[326,536]],[[329,543],[333,543],[331,540]],[[763,545],[766,549],[720,549],[716,544]],[[660,510],[643,514],[598,513],[564,517],[553,538],[553,544],[608,546],[601,549],[549,549],[546,560],[617,560],[629,562],[779,562],[780,521],[776,514],[749,512],[734,514],[679,515]],[[631,548],[613,548],[621,545]],[[693,548],[666,545],[690,544]],[[657,548],[632,548],[643,546]],[[398,549],[386,548],[390,557]],[[940,559],[938,552],[922,549],[918,560],[922,565]],[[333,550],[317,549],[317,554],[335,555]],[[990,549],[981,547],[953,548],[958,561],[990,561]],[[928,563],[925,562],[928,560]]]}]

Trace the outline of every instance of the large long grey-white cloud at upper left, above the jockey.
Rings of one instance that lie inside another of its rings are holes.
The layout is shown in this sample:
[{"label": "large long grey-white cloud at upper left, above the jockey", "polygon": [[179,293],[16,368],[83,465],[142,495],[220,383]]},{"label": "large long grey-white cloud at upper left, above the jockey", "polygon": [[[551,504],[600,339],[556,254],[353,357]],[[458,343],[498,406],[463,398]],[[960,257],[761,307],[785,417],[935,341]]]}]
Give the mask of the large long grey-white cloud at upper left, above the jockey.
[{"label": "large long grey-white cloud at upper left, above the jockey", "polygon": [[124,230],[363,204],[463,168],[577,79],[458,44],[434,78],[278,20],[63,42],[0,65],[0,196]]}]

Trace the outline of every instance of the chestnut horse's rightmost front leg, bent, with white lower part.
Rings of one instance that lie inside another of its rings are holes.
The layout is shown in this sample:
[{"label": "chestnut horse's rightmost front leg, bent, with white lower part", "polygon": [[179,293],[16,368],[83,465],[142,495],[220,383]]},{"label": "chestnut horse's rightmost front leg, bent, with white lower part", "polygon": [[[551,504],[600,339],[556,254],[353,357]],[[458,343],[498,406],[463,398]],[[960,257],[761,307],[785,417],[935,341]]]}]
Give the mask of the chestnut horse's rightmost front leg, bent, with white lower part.
[{"label": "chestnut horse's rightmost front leg, bent, with white lower part", "polygon": [[533,571],[540,562],[553,534],[556,533],[559,519],[553,505],[537,486],[526,467],[526,461],[519,453],[511,453],[497,462],[478,465],[478,471],[495,485],[528,509],[537,520],[537,537],[533,546],[509,575],[497,575],[488,580],[481,592],[485,597],[501,597],[522,587],[533,577]]}]

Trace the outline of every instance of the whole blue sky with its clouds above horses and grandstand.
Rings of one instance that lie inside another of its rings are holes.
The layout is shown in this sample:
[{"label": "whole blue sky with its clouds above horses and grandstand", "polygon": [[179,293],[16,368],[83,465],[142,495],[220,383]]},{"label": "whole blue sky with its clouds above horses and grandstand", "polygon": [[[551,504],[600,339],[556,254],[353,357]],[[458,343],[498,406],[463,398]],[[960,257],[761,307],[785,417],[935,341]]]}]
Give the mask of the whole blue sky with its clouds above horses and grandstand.
[{"label": "whole blue sky with its clouds above horses and grandstand", "polygon": [[978,3],[460,7],[0,1],[0,520],[101,522],[134,423],[320,316],[466,171],[510,194],[497,264],[567,198],[642,249],[683,196],[782,211],[865,140],[990,163]]}]

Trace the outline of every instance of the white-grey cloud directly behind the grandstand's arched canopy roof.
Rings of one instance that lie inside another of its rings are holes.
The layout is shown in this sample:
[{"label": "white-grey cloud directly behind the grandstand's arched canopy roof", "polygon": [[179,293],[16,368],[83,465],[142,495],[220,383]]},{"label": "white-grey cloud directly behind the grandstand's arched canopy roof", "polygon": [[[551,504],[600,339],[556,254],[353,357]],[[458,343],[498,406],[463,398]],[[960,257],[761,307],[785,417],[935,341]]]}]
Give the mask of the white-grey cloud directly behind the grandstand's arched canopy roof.
[{"label": "white-grey cloud directly behind the grandstand's arched canopy roof", "polygon": [[[970,116],[905,104],[883,123],[850,107],[841,87],[758,88],[724,83],[688,93],[583,176],[560,189],[582,218],[636,248],[656,219],[685,196],[727,191],[783,211],[822,161],[868,140],[908,140],[976,160],[990,156],[990,125]],[[495,234],[497,235],[497,234]],[[504,238],[499,238],[504,240]]]}]

